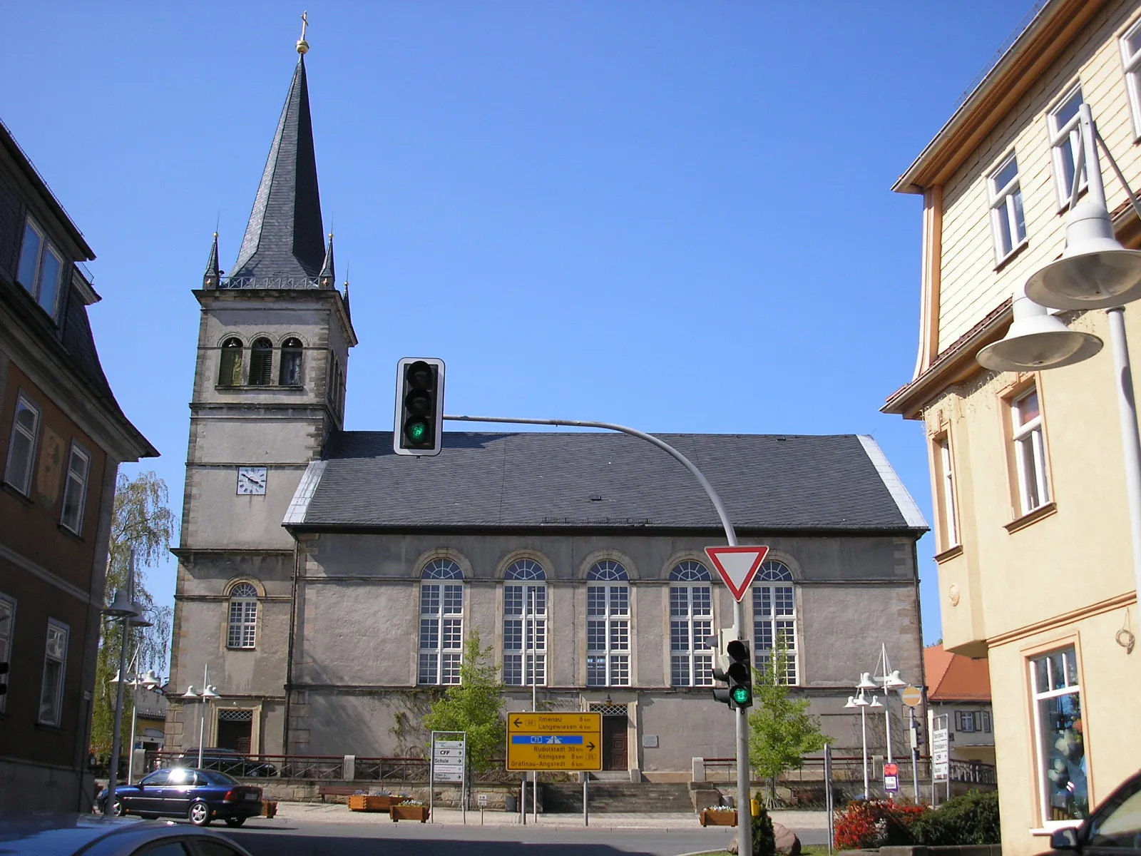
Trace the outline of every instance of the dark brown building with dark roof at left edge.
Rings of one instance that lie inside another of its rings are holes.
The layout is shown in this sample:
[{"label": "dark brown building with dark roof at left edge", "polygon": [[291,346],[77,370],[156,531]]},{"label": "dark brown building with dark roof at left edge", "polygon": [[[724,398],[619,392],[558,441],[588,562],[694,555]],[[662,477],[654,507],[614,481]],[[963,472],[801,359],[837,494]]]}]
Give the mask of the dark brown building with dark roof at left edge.
[{"label": "dark brown building with dark roof at left edge", "polygon": [[89,810],[119,465],[157,455],[99,365],[75,224],[0,123],[0,805]]}]

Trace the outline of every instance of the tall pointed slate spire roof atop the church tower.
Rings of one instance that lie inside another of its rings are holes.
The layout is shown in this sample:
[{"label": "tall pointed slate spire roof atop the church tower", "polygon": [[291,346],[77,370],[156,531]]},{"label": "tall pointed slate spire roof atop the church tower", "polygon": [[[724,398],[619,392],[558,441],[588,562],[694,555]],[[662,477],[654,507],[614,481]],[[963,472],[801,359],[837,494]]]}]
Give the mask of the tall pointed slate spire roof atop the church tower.
[{"label": "tall pointed slate spire roof atop the church tower", "polygon": [[309,87],[301,56],[232,277],[316,276],[325,260]]}]

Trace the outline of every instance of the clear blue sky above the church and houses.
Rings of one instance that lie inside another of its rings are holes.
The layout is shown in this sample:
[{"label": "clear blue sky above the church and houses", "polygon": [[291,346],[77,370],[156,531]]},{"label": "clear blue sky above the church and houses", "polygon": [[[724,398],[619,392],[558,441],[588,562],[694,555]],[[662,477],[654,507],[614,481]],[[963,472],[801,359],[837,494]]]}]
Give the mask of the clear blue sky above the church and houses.
[{"label": "clear blue sky above the church and houses", "polygon": [[[922,428],[879,412],[919,330],[921,202],[890,187],[1031,0],[305,2],[348,428],[390,430],[396,361],[440,356],[453,413],[871,434],[931,519]],[[0,118],[98,255],[103,365],[176,511],[191,290],[216,223],[237,255],[300,13],[3,13]]]}]

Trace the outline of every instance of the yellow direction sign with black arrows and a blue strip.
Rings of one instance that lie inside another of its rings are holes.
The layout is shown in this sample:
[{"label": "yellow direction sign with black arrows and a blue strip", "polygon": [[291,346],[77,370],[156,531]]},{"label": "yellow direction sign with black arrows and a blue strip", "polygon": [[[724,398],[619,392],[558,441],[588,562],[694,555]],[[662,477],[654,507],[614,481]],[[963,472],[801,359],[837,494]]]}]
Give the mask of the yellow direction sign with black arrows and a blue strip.
[{"label": "yellow direction sign with black arrows and a blue strip", "polygon": [[509,713],[507,768],[602,769],[602,714]]}]

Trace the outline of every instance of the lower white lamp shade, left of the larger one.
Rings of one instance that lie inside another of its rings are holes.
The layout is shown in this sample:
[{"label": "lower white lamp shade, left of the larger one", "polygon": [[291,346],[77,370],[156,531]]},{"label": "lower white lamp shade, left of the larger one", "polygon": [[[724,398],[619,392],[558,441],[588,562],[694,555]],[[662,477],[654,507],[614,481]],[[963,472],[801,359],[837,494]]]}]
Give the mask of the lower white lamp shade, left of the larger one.
[{"label": "lower white lamp shade, left of the larger one", "polygon": [[1070,330],[1021,289],[1014,291],[1013,309],[1014,321],[1006,336],[979,352],[982,368],[1011,372],[1058,369],[1081,363],[1101,350],[1101,339]]}]

